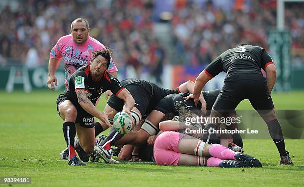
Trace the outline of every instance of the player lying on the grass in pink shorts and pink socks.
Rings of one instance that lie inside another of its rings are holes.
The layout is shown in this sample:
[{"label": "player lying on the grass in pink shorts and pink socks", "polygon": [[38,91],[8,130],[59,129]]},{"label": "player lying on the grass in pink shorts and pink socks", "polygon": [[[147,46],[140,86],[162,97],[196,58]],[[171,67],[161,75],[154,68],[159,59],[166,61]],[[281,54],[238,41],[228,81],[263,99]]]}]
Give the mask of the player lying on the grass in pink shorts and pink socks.
[{"label": "player lying on the grass in pink shorts and pink socks", "polygon": [[175,131],[165,131],[156,137],[153,155],[157,165],[262,167],[252,156]]}]

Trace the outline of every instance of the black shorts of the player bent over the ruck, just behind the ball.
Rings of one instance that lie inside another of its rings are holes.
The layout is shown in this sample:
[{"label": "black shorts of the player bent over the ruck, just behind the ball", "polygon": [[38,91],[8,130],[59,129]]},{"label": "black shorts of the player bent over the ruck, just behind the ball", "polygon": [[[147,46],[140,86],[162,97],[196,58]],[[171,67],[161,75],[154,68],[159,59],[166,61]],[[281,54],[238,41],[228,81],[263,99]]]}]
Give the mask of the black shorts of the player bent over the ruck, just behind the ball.
[{"label": "black shorts of the player bent over the ruck, just behind the ball", "polygon": [[[132,97],[135,100],[134,107],[136,107],[141,112],[141,115],[143,117],[151,101],[152,91],[136,84],[126,85],[125,88],[131,93]],[[116,111],[122,111],[125,102],[115,95],[112,95],[107,104]]]}]

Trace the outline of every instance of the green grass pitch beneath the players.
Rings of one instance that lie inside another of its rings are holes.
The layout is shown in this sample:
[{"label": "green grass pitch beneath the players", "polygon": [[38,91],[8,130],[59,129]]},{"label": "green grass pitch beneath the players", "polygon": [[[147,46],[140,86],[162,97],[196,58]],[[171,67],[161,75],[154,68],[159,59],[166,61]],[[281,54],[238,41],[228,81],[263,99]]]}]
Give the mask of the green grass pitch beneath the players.
[{"label": "green grass pitch beneath the players", "polygon": [[[0,92],[0,177],[32,177],[17,187],[303,187],[304,140],[286,140],[294,166],[280,166],[272,140],[244,140],[247,154],[262,168],[156,166],[152,163],[88,163],[68,166],[59,159],[65,147],[57,115],[59,92]],[[304,92],[273,94],[276,109],[304,109]],[[98,108],[102,111],[105,102]],[[251,109],[242,102],[238,109]],[[8,184],[0,186],[9,186]]]}]

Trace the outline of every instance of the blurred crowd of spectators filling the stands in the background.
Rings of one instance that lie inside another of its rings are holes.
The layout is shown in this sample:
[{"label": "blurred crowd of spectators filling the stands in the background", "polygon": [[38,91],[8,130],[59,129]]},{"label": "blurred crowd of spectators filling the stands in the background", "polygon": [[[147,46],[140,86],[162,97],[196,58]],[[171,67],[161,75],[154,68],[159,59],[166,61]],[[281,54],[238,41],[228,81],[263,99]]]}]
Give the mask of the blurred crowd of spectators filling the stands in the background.
[{"label": "blurred crowd of spectators filling the stands in the background", "polygon": [[[303,7],[303,2],[286,3],[285,11],[293,58],[300,63]],[[172,12],[170,19],[160,19],[161,8]],[[267,49],[269,29],[276,25],[276,0],[1,0],[0,65],[46,65],[50,49],[70,33],[77,17],[87,19],[90,36],[113,50],[119,68],[132,65],[139,76],[148,66],[161,81],[158,74],[166,62],[208,64],[237,43]],[[152,32],[157,22],[169,25],[169,45]]]}]

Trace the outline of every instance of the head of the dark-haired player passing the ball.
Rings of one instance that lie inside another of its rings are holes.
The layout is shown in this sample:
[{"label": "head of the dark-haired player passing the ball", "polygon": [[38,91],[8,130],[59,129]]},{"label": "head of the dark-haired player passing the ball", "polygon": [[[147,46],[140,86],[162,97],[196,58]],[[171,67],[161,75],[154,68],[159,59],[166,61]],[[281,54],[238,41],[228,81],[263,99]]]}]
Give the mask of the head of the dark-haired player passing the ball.
[{"label": "head of the dark-haired player passing the ball", "polygon": [[91,54],[90,64],[91,73],[94,76],[99,76],[109,67],[111,61],[111,51],[107,48],[94,51]]}]

